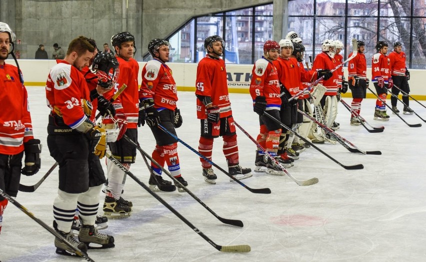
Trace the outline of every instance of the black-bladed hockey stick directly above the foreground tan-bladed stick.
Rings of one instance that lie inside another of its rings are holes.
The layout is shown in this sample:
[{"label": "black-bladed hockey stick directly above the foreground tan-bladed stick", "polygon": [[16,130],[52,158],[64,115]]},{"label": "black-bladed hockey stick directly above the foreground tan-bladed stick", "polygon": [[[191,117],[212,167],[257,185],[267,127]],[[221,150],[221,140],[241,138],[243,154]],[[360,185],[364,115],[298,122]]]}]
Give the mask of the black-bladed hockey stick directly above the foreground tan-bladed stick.
[{"label": "black-bladed hockey stick directly above the foreground tan-bladed stick", "polygon": [[[201,206],[203,206],[208,212],[210,212],[214,217],[216,217],[220,222],[224,223],[224,224],[228,224],[228,225],[232,225],[232,226],[237,226],[237,227],[243,227],[243,224],[240,220],[233,220],[233,219],[224,219],[219,217],[216,213],[214,213],[209,207],[207,207],[207,205],[205,205],[199,198],[197,198],[188,188],[186,188],[185,186],[183,186],[177,179],[175,179],[170,172],[168,172],[167,170],[165,170],[161,165],[159,165],[155,160],[152,159],[151,156],[149,156],[145,151],[143,151],[143,149],[140,147],[139,143],[135,143],[133,140],[131,140],[128,136],[124,135],[124,138],[130,143],[132,144],[139,152],[140,154],[143,156],[143,158],[147,157],[150,161],[152,161],[152,163],[154,163],[157,167],[161,168],[161,170],[169,177],[171,178],[175,183],[179,183],[183,190],[186,191],[186,193],[188,193],[193,199],[195,199],[199,204],[201,204]],[[150,169],[150,167],[148,167]],[[152,172],[152,170],[150,170],[150,172]]]}]

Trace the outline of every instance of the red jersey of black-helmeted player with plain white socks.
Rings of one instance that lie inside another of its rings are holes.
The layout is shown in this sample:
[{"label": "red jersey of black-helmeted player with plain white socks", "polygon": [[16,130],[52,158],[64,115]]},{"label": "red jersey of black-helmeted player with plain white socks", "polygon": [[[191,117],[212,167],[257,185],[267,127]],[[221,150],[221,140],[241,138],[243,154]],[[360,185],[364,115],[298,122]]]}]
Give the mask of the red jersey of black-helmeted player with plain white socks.
[{"label": "red jersey of black-helmeted player with plain white socks", "polygon": [[[114,87],[108,92],[104,93],[103,96],[106,99],[111,99],[112,96],[118,91],[118,89],[126,84],[127,88],[112,102],[116,113],[124,113],[127,120],[127,129],[137,128],[137,119],[139,116],[139,96],[137,86],[137,76],[133,75],[133,69],[130,66],[130,62],[122,59],[119,56],[115,56],[118,61],[118,79]],[[104,123],[110,123],[111,120],[105,117]]]}]

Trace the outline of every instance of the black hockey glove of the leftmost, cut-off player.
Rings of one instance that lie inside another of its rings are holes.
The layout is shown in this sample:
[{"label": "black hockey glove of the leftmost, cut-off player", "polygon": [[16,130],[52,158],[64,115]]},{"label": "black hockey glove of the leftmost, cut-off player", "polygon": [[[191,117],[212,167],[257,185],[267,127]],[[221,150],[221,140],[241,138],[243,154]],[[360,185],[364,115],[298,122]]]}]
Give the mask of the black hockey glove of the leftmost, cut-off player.
[{"label": "black hockey glove of the leftmost, cut-off player", "polygon": [[41,145],[40,140],[38,139],[30,139],[28,142],[23,143],[25,160],[24,167],[20,171],[22,175],[32,176],[37,174],[38,170],[41,166],[40,153],[41,153]]}]

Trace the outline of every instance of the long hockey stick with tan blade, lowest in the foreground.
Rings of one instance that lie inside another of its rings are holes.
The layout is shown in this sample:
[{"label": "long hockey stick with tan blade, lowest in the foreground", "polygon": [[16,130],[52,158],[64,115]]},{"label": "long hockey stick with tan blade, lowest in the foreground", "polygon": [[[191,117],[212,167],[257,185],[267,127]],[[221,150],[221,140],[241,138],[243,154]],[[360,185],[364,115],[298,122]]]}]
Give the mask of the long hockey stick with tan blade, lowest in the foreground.
[{"label": "long hockey stick with tan blade, lowest in the foreground", "polygon": [[109,152],[105,153],[105,156],[112,161],[118,168],[120,168],[127,176],[131,177],[137,184],[139,184],[144,190],[146,190],[151,196],[158,200],[161,204],[164,205],[168,210],[170,210],[176,217],[178,217],[183,223],[185,223],[189,228],[191,228],[196,234],[201,238],[207,241],[211,246],[220,252],[235,252],[235,253],[247,253],[250,252],[251,248],[248,245],[237,245],[237,246],[220,246],[211,241],[207,236],[205,236],[199,229],[192,225],[185,217],[180,215],[173,207],[171,207],[167,202],[165,202],[160,196],[155,194],[148,186],[143,184],[135,175],[128,171],[123,165],[118,162],[114,157],[111,156]]}]

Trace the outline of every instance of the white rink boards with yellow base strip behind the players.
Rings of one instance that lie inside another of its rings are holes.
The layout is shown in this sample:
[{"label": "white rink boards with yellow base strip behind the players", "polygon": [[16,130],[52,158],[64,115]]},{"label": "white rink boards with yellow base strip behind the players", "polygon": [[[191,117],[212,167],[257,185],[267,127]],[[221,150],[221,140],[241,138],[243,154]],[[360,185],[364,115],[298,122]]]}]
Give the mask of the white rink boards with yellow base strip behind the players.
[{"label": "white rink boards with yellow base strip behind the players", "polygon": [[[7,59],[6,63],[14,64],[13,59]],[[19,67],[22,70],[25,85],[43,87],[46,83],[47,74],[50,68],[55,64],[54,60],[33,60],[20,59]],[[141,71],[144,62],[139,62],[139,83],[141,82]],[[195,63],[167,63],[173,71],[173,77],[176,81],[177,90],[195,91],[196,67]],[[248,93],[251,80],[251,69],[253,65],[226,64],[228,75],[228,89],[233,93]],[[344,67],[344,74],[347,76],[347,68]],[[417,100],[426,100],[426,89],[424,86],[424,74],[426,70],[410,69],[411,78],[409,80],[410,95]],[[371,68],[367,68],[367,77],[371,79]],[[370,88],[374,90],[372,84]],[[350,90],[343,97],[351,97]],[[374,96],[367,90],[367,97]],[[248,96],[247,96],[248,98]],[[249,99],[249,98],[248,98]]]}]

